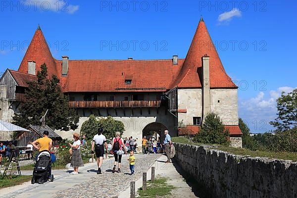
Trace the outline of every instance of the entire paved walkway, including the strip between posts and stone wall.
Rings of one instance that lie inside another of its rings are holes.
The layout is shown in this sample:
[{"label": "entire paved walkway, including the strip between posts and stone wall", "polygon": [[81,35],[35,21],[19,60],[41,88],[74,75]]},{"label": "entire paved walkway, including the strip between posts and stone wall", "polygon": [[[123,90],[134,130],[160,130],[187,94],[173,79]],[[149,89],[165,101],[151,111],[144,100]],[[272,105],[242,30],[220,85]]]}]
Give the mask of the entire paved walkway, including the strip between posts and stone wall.
[{"label": "entire paved walkway, including the strip between posts and stone wall", "polygon": [[[26,182],[22,185],[1,190],[3,198],[128,198],[130,197],[130,181],[136,181],[136,189],[142,187],[142,173],[147,171],[148,180],[151,176],[151,166],[155,166],[155,175],[168,178],[168,184],[177,187],[172,191],[172,198],[196,198],[202,195],[199,188],[186,181],[181,168],[176,163],[164,163],[167,157],[161,154],[136,154],[135,175],[130,175],[127,157],[122,158],[122,173],[112,173],[113,158],[105,159],[102,165],[102,175],[97,175],[97,164],[88,163],[79,168],[78,175],[72,175],[72,170],[53,170],[54,182],[34,184]],[[22,171],[23,175],[31,175],[32,171]],[[1,198],[2,198],[1,197]],[[200,198],[203,198],[201,196]]]}]

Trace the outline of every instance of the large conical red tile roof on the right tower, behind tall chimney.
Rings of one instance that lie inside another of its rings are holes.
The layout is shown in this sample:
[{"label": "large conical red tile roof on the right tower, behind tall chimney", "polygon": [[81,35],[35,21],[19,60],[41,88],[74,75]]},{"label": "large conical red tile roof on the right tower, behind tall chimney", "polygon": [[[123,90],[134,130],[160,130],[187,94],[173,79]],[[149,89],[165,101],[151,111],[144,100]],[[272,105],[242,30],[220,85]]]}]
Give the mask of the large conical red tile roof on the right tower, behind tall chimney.
[{"label": "large conical red tile roof on the right tower, behind tall chimney", "polygon": [[209,56],[210,87],[236,88],[237,86],[224,70],[202,16],[181,71],[171,88],[200,88],[202,84],[200,80],[202,72],[201,57],[205,54]]}]

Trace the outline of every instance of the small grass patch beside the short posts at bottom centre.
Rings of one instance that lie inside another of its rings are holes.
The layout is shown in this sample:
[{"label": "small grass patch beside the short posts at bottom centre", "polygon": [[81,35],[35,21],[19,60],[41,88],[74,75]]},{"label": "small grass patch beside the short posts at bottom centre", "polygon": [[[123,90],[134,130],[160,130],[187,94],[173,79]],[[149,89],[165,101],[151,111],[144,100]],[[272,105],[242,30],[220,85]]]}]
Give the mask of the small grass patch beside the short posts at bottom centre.
[{"label": "small grass patch beside the short posts at bottom centre", "polygon": [[147,183],[147,190],[143,191],[142,188],[138,190],[139,198],[170,198],[172,197],[171,191],[176,187],[167,184],[167,178],[159,177],[153,182],[150,180]]}]

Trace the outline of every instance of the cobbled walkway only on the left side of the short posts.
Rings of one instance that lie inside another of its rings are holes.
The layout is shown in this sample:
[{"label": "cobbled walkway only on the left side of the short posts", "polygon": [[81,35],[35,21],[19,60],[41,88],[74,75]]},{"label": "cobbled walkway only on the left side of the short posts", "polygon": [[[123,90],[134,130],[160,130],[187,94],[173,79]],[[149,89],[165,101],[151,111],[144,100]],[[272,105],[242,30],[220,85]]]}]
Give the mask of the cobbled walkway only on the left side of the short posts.
[{"label": "cobbled walkway only on the left side of the short posts", "polygon": [[[26,182],[16,187],[1,190],[0,196],[3,198],[69,198],[69,197],[94,197],[112,198],[117,197],[121,192],[130,188],[130,180],[138,180],[142,177],[142,172],[160,157],[158,154],[143,155],[137,154],[138,161],[135,167],[135,175],[130,175],[127,157],[122,158],[122,173],[111,173],[113,158],[106,159],[102,165],[102,175],[97,175],[97,164],[88,163],[85,167],[79,168],[78,175],[70,174],[72,170],[53,170],[54,182],[44,184],[34,184]],[[31,175],[32,171],[22,171],[23,175]]]}]

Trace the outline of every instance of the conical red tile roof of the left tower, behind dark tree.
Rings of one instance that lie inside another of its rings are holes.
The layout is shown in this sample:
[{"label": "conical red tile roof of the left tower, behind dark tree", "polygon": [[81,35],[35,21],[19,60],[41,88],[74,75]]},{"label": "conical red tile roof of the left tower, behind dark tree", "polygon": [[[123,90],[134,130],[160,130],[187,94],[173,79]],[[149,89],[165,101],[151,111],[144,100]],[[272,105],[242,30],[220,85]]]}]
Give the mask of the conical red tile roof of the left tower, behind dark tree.
[{"label": "conical red tile roof of the left tower, behind dark tree", "polygon": [[20,64],[19,72],[28,72],[28,60],[36,62],[36,74],[37,71],[41,70],[40,66],[44,63],[47,64],[49,77],[52,74],[57,74],[54,59],[39,25]]}]

